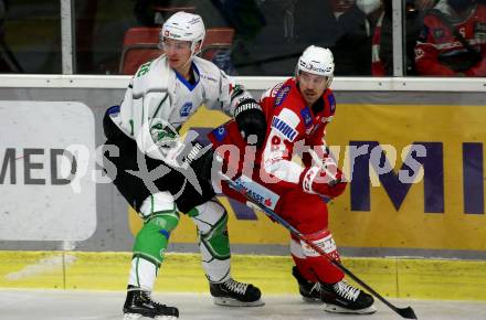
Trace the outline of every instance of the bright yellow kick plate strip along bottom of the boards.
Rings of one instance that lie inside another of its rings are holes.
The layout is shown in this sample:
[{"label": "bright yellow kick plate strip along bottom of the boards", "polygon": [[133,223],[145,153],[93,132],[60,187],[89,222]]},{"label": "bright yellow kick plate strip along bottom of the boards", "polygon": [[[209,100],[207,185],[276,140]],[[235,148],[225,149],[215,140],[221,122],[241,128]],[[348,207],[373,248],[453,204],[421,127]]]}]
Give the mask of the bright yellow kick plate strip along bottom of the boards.
[{"label": "bright yellow kick plate strip along bottom of the boards", "polygon": [[[0,252],[0,288],[125,290],[130,253]],[[486,262],[352,258],[344,264],[384,297],[486,300]],[[292,260],[233,255],[232,274],[267,295],[297,294]],[[199,255],[167,254],[156,291],[207,292]]]}]

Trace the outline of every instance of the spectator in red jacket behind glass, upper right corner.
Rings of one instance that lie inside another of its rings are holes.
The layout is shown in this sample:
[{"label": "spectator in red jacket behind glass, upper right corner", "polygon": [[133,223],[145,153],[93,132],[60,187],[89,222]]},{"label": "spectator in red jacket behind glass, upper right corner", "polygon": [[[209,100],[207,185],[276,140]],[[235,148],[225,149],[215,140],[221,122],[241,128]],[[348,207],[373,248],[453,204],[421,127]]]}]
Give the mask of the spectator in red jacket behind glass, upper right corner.
[{"label": "spectator in red jacket behind glass, upper right corner", "polygon": [[415,67],[430,76],[486,76],[486,7],[440,0],[424,18]]}]

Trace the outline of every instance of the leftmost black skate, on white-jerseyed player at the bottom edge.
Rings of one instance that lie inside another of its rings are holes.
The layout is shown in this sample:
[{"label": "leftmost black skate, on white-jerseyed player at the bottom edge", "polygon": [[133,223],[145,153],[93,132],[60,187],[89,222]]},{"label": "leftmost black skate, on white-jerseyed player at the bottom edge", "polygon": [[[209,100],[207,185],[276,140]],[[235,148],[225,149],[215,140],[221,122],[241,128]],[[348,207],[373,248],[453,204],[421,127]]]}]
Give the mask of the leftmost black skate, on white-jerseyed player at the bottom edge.
[{"label": "leftmost black skate, on white-jerseyed player at the bottom edge", "polygon": [[179,310],[175,307],[154,301],[150,292],[128,286],[127,299],[124,305],[124,320],[138,320],[141,317],[154,319],[177,319]]}]

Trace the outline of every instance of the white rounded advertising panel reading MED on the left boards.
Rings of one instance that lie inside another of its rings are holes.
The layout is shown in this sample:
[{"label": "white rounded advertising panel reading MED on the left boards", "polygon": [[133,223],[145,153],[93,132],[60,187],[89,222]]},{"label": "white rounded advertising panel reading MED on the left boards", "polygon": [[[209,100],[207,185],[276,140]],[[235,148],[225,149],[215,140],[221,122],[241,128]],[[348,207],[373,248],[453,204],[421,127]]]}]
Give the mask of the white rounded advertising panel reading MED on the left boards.
[{"label": "white rounded advertising panel reading MED on the left boards", "polygon": [[92,110],[74,102],[0,100],[0,239],[89,238],[96,230],[92,173],[99,173]]}]

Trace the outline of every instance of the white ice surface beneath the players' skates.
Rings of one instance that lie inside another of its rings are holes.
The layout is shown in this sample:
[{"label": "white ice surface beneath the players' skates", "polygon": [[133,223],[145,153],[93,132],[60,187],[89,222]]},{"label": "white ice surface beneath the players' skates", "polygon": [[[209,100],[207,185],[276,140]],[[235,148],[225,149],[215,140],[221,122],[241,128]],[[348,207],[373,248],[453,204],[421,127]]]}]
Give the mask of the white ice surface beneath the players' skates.
[{"label": "white ice surface beneath the players' skates", "polygon": [[[402,319],[381,302],[371,316],[331,314],[323,305],[306,303],[298,296],[266,296],[264,307],[214,306],[209,295],[161,294],[155,298],[176,306],[187,320],[300,320],[300,319]],[[1,320],[95,320],[123,319],[124,292],[70,290],[0,290]],[[411,306],[424,320],[484,320],[486,302],[391,300],[397,307]]]}]

